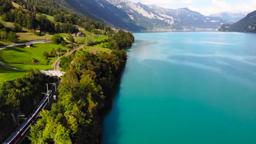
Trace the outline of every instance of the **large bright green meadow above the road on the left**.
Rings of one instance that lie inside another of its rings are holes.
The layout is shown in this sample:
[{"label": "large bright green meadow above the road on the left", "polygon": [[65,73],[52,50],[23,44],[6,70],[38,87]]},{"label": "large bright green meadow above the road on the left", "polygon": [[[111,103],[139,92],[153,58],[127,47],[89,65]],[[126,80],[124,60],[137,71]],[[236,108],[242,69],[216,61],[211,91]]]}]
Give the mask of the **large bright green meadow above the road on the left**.
[{"label": "large bright green meadow above the road on the left", "polygon": [[[30,68],[38,69],[50,69],[53,61],[56,60],[57,53],[53,54],[56,50],[59,53],[59,49],[62,50],[62,54],[67,51],[66,47],[62,45],[56,45],[53,43],[41,43],[34,44],[33,48],[30,47],[7,47],[0,50],[0,61],[22,70],[28,70]],[[45,57],[44,52],[48,52],[48,57]]]}]

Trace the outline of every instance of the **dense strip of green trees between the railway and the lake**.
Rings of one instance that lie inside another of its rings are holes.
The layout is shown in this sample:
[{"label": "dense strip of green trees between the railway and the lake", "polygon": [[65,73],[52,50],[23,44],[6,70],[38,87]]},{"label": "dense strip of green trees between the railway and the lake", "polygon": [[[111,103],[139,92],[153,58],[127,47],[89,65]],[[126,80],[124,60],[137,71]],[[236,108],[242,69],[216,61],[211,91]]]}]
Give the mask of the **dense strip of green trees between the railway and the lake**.
[{"label": "dense strip of green trees between the railway and the lake", "polygon": [[126,51],[72,58],[58,88],[59,101],[32,126],[32,143],[100,143],[99,111],[126,62]]}]

